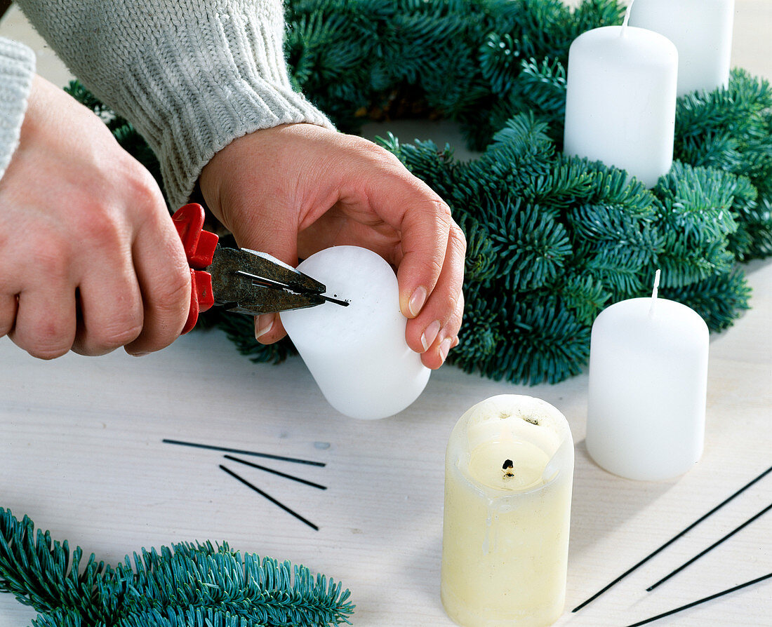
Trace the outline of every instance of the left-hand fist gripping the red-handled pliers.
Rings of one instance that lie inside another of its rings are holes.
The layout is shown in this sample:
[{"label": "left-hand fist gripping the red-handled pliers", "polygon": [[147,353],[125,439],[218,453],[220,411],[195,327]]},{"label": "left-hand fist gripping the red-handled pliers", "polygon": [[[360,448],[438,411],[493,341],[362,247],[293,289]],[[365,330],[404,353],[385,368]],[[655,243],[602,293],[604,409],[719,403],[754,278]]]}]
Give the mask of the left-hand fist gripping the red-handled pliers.
[{"label": "left-hand fist gripping the red-handled pliers", "polygon": [[37,76],[0,207],[0,337],[42,359],[177,338],[190,271],[161,190],[97,116]]}]

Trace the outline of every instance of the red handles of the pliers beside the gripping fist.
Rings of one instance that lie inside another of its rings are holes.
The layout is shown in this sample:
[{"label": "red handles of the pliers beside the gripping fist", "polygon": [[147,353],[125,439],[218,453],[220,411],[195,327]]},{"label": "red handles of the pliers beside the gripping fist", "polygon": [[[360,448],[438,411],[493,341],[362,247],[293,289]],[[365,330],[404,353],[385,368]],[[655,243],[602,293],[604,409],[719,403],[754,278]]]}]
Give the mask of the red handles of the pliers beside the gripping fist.
[{"label": "red handles of the pliers beside the gripping fist", "polygon": [[212,275],[205,268],[212,263],[219,238],[214,233],[204,231],[204,207],[198,203],[186,204],[171,216],[174,226],[185,248],[185,257],[191,268],[191,306],[188,320],[182,328],[187,333],[198,322],[198,314],[205,312],[215,304],[212,291]]}]

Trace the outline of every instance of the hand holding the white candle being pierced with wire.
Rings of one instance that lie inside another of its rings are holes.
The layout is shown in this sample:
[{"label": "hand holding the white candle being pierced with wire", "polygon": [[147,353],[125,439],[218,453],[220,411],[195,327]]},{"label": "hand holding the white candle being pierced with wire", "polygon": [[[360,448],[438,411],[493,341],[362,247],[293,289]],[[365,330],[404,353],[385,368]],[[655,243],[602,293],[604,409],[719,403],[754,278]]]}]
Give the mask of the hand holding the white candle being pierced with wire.
[{"label": "hand holding the white candle being pierced with wire", "polygon": [[[428,368],[458,343],[466,240],[442,199],[387,150],[321,126],[276,126],[215,154],[199,184],[239,246],[294,266],[351,244],[397,267],[408,346]],[[278,315],[256,319],[260,342],[283,335]]]}]

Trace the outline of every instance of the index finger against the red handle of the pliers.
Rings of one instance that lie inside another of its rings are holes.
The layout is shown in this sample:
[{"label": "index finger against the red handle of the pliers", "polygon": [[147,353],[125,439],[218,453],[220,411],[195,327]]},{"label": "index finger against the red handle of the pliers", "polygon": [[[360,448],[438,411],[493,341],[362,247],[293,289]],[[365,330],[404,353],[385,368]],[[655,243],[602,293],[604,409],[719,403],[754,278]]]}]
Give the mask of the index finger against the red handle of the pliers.
[{"label": "index finger against the red handle of the pliers", "polygon": [[150,217],[131,249],[142,299],[142,330],[126,345],[131,355],[161,350],[178,338],[188,319],[191,278],[171,217]]}]

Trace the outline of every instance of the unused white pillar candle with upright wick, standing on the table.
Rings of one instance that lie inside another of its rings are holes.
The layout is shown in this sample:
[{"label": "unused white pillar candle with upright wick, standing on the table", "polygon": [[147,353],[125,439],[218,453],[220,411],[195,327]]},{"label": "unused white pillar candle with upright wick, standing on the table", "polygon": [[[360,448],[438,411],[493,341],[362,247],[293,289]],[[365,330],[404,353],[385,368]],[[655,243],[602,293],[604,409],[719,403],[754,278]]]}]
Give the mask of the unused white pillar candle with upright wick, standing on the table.
[{"label": "unused white pillar candle with upright wick, standing on the table", "polygon": [[678,477],[703,453],[708,327],[658,283],[592,325],[587,452],[628,479]]}]

